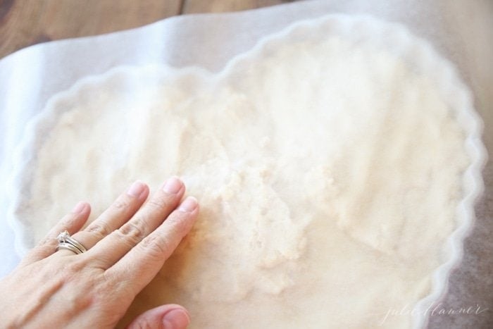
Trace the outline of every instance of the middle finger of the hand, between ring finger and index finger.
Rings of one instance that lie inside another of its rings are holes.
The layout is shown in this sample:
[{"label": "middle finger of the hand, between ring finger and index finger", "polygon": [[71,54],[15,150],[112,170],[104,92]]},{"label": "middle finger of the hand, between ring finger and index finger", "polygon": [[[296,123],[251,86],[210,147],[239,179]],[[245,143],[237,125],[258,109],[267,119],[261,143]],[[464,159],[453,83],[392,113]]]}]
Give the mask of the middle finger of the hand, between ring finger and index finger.
[{"label": "middle finger of the hand, between ring finger and index finger", "polygon": [[116,263],[163,223],[176,208],[183,193],[185,193],[185,185],[181,180],[172,177],[166,181],[130,221],[89,249],[88,256],[94,259],[94,265],[106,270]]}]

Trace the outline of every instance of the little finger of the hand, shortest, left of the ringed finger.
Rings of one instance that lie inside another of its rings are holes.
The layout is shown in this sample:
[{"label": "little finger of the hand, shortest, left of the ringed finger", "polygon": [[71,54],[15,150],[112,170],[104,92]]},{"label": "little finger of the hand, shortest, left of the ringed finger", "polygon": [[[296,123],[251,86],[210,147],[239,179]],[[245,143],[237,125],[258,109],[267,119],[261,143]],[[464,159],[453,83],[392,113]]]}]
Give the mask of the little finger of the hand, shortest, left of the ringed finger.
[{"label": "little finger of the hand, shortest, left of the ringed finger", "polygon": [[58,241],[57,235],[64,230],[67,230],[69,234],[73,234],[80,230],[82,226],[89,218],[91,213],[91,206],[87,202],[79,202],[75,208],[61,219],[54,228],[51,228],[49,233],[44,239],[37,244],[23,259],[23,263],[32,263],[44,259],[47,256],[53,254],[56,250]]}]

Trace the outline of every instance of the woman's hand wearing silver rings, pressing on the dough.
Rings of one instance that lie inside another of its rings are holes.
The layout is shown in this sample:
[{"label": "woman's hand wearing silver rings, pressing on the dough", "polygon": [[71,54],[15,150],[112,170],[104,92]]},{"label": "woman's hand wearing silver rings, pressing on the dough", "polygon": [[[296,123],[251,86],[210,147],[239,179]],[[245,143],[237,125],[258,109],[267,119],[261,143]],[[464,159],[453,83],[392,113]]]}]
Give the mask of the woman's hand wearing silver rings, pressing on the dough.
[{"label": "woman's hand wearing silver rings, pressing on the dough", "polygon": [[[89,224],[90,206],[81,202],[46,239],[0,281],[0,323],[8,328],[113,328],[139,293],[187,235],[199,211],[185,185],[170,178],[149,196],[135,182]],[[142,206],[144,204],[144,206]],[[68,230],[87,252],[58,252],[56,237]],[[129,328],[185,328],[179,305],[146,311]]]}]

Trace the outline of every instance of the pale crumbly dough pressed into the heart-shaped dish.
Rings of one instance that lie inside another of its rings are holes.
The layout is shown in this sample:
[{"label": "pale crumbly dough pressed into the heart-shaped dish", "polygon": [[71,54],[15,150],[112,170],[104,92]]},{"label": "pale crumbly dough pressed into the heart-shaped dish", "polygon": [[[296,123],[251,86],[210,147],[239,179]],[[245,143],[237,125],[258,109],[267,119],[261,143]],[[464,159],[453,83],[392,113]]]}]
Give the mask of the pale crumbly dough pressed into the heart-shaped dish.
[{"label": "pale crumbly dough pressed into the heart-shaped dish", "polygon": [[21,213],[35,240],[137,178],[179,175],[201,204],[120,325],[174,302],[190,328],[410,327],[380,322],[430,292],[468,158],[437,86],[399,56],[300,39],[220,75],[115,73],[65,105]]}]

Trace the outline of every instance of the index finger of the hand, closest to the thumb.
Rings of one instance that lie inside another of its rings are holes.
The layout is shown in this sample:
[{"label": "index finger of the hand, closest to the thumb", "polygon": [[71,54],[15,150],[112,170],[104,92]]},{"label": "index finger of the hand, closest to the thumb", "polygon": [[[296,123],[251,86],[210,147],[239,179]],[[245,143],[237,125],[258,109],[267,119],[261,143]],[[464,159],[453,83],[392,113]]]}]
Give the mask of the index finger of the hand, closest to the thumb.
[{"label": "index finger of the hand, closest to the thumb", "polygon": [[151,235],[137,244],[113,267],[108,268],[108,278],[131,285],[130,288],[135,294],[140,292],[156,276],[164,261],[187,235],[198,213],[199,205],[196,199],[187,197]]}]

